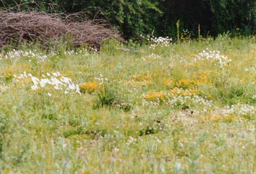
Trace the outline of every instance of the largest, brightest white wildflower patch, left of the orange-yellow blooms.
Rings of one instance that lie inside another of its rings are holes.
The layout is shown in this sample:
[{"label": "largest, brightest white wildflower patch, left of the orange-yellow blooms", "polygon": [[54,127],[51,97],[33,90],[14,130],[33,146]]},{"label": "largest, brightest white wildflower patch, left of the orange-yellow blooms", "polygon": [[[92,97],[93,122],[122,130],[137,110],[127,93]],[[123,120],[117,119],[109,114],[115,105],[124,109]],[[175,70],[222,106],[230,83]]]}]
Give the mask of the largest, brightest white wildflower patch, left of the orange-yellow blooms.
[{"label": "largest, brightest white wildflower patch, left of the orange-yellow blooms", "polygon": [[[42,78],[37,78],[36,76],[27,74],[26,72],[20,74],[19,76],[15,75],[14,77],[18,82],[22,82],[24,78],[29,78],[29,80],[32,82],[32,90],[50,87],[51,89],[64,91],[65,94],[70,92],[77,92],[80,94],[79,85],[73,83],[70,78],[61,76],[59,72],[47,73],[47,78],[45,75],[42,75]],[[52,94],[47,93],[47,95],[51,96]]]}]

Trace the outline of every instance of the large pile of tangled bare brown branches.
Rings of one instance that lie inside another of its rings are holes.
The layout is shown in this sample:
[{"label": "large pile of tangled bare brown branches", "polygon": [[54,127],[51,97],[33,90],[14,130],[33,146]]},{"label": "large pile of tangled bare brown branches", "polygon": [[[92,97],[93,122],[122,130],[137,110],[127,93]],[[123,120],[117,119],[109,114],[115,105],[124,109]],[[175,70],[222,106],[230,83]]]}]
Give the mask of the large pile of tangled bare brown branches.
[{"label": "large pile of tangled bare brown branches", "polygon": [[0,12],[0,47],[7,41],[20,44],[24,40],[47,45],[60,39],[75,47],[88,45],[99,50],[107,38],[122,40],[113,27],[103,20],[88,20],[76,13],[44,13],[36,11]]}]

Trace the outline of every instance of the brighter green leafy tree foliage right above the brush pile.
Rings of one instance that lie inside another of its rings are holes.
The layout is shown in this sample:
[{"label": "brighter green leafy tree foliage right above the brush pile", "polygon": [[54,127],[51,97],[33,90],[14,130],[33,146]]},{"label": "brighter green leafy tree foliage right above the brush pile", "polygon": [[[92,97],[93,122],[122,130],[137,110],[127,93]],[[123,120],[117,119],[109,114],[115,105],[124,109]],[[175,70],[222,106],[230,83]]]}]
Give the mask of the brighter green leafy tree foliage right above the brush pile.
[{"label": "brighter green leafy tree foliage right above the brush pile", "polygon": [[152,0],[59,0],[58,4],[67,12],[84,10],[93,16],[108,19],[127,37],[156,30],[156,21],[162,15],[159,4]]}]

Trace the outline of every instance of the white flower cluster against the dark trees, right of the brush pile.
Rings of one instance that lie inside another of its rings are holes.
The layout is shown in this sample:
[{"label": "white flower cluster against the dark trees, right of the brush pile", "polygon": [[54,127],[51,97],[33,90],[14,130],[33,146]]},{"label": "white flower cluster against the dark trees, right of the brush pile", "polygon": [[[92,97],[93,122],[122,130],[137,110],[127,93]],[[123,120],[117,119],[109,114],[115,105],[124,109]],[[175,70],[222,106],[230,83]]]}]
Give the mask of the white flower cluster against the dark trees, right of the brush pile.
[{"label": "white flower cluster against the dark trees, right of the brush pile", "polygon": [[161,46],[161,47],[168,47],[170,45],[172,45],[172,38],[169,38],[168,36],[166,38],[163,37],[150,37],[147,36],[147,41],[150,41],[150,48],[152,48],[153,50],[157,47],[157,46]]}]

